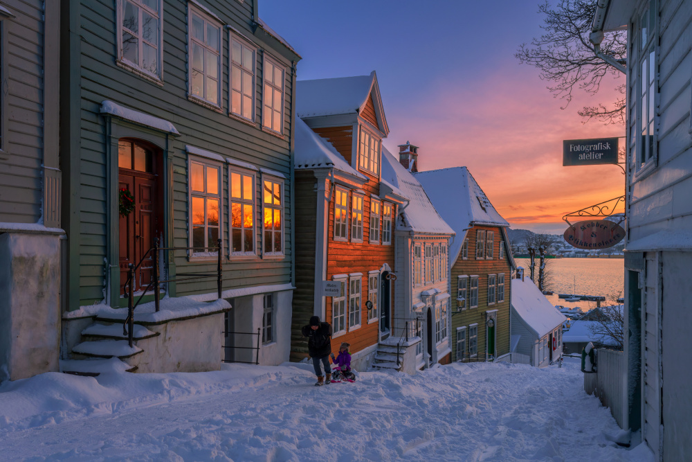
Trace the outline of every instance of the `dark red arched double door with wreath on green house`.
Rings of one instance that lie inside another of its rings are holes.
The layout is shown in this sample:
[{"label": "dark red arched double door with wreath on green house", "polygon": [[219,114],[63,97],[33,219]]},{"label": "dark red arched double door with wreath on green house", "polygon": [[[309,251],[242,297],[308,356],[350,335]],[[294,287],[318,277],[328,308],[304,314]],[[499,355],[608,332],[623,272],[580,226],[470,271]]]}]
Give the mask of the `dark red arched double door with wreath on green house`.
[{"label": "dark red arched double door with wreath on green house", "polygon": [[[118,201],[131,195],[134,208],[120,212],[118,249],[120,254],[120,293],[127,281],[128,265],[137,265],[161,236],[163,223],[160,177],[162,152],[156,146],[137,139],[118,140]],[[125,193],[124,191],[127,191]],[[125,199],[127,202],[127,199]],[[147,254],[135,272],[134,292],[145,290],[152,281],[154,260]]]}]

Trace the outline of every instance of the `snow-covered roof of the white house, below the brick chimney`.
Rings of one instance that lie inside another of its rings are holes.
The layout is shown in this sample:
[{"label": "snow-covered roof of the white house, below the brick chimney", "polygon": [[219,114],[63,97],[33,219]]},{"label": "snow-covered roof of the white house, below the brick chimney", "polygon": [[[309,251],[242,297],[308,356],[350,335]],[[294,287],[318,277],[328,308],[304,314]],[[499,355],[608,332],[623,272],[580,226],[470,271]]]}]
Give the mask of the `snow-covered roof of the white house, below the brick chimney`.
[{"label": "snow-covered roof of the white house, below the brick chimney", "polygon": [[[383,146],[382,181],[394,186],[401,195],[409,199],[397,217],[397,229],[418,231],[419,233],[454,234],[439,213],[432,206],[426,191],[411,173]],[[401,217],[403,216],[403,220]]]}]

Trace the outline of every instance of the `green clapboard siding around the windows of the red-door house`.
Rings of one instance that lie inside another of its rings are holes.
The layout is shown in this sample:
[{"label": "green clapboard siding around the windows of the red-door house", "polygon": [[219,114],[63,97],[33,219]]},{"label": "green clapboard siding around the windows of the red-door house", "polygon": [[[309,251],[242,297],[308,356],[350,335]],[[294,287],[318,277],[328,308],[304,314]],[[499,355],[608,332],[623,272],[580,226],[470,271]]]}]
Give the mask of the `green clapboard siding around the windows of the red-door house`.
[{"label": "green clapboard siding around the windows of the red-door house", "polygon": [[[39,2],[37,2],[39,3]],[[191,3],[192,4],[192,3]],[[105,157],[106,143],[104,117],[99,110],[103,100],[145,112],[172,122],[181,133],[179,137],[169,137],[167,155],[172,159],[172,242],[176,247],[187,247],[188,241],[188,154],[185,145],[192,145],[252,163],[257,168],[269,168],[281,172],[284,180],[284,256],[251,259],[228,258],[229,220],[228,220],[228,166],[222,170],[220,219],[224,236],[224,289],[236,287],[285,284],[291,282],[291,114],[293,75],[290,53],[274,49],[263,41],[264,33],[258,30],[254,35],[251,27],[253,2],[208,0],[204,6],[217,15],[224,24],[239,30],[246,39],[257,46],[255,78],[255,117],[254,126],[228,116],[229,75],[228,29],[221,28],[221,111],[217,112],[188,100],[188,1],[163,1],[163,85],[156,85],[135,73],[116,65],[116,2],[112,0],[72,1],[66,8],[66,15],[78,15],[79,29],[76,31],[73,49],[80,53],[80,69],[71,73],[71,78],[79,81],[80,103],[76,109],[78,120],[79,150],[71,154],[80,160],[78,179],[73,180],[73,200],[71,207],[74,216],[80,217],[79,241],[75,253],[71,252],[70,264],[78,267],[79,278],[71,290],[79,292],[79,304],[84,305],[102,299],[104,287],[104,258],[107,257],[109,242],[106,229],[108,162]],[[69,10],[69,11],[68,11]],[[284,66],[284,122],[282,136],[262,130],[262,51],[271,55]],[[140,132],[142,137],[152,133],[143,128],[133,130],[133,136]],[[160,133],[159,133],[160,134]],[[136,136],[135,136],[136,137]],[[78,154],[77,154],[78,152]],[[255,193],[255,248],[262,248],[262,207],[261,178],[257,172]],[[163,219],[163,217],[162,217]],[[85,258],[82,258],[85,257]],[[216,261],[188,261],[185,252],[176,251],[174,267],[177,272],[208,273],[215,272]],[[215,280],[177,283],[176,294],[199,294],[215,292]],[[73,303],[69,310],[78,308]]]}]

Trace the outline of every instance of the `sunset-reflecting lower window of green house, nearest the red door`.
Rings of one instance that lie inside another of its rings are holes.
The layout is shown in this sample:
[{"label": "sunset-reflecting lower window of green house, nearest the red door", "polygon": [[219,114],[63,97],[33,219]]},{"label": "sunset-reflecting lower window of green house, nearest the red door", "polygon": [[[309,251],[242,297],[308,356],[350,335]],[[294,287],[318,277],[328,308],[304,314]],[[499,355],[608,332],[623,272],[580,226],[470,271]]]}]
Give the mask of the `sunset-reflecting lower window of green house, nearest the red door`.
[{"label": "sunset-reflecting lower window of green house, nearest the red door", "polygon": [[190,247],[192,255],[217,255],[219,229],[219,204],[221,195],[221,166],[190,159]]}]

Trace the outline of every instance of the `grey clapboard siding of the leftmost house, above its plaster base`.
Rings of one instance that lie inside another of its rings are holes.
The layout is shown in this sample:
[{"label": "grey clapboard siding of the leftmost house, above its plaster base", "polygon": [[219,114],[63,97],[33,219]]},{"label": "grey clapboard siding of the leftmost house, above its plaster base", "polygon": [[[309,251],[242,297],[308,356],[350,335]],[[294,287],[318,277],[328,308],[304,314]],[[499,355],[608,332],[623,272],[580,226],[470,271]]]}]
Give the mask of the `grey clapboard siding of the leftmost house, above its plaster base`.
[{"label": "grey clapboard siding of the leftmost house, above its plaster base", "polygon": [[[44,6],[13,1],[15,17],[1,21],[6,39],[3,79],[5,125],[0,154],[0,222],[36,223],[42,218],[44,159]],[[57,18],[55,18],[57,19]]]}]

